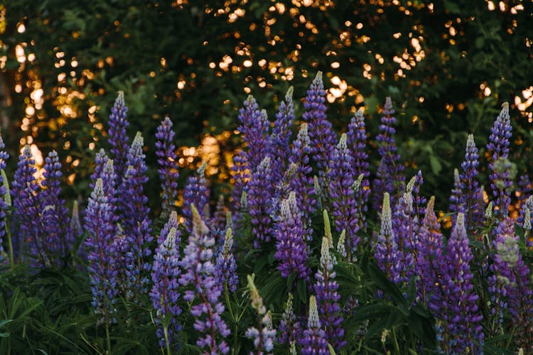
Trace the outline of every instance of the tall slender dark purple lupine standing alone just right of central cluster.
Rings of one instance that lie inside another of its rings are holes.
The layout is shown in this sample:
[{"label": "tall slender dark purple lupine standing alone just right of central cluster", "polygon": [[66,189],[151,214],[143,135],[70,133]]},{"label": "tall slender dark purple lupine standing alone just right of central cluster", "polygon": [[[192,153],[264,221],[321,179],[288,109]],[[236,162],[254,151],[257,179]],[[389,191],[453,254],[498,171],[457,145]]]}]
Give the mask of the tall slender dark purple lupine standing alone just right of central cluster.
[{"label": "tall slender dark purple lupine standing alone just right of central cluster", "polygon": [[404,190],[405,177],[402,174],[404,165],[399,163],[400,155],[397,152],[396,143],[394,143],[396,129],[393,126],[397,120],[392,116],[393,114],[392,101],[390,97],[387,97],[381,118],[382,124],[379,125],[379,134],[376,137],[376,141],[379,143],[378,151],[381,161],[379,168],[377,168],[377,177],[374,180],[374,202],[372,204],[374,209],[379,209],[384,192],[389,193],[393,203],[394,196]]}]

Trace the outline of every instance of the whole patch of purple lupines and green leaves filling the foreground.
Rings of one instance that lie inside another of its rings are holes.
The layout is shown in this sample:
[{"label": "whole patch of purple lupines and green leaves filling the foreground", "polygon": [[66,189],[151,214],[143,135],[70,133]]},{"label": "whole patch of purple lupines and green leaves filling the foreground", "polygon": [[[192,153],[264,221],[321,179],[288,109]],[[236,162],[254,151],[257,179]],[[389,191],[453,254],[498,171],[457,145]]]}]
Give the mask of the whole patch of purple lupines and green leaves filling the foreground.
[{"label": "whole patch of purple lupines and green leaves filling the foreground", "polygon": [[[421,192],[421,171],[404,175],[391,98],[376,138],[381,163],[370,173],[364,112],[338,136],[321,72],[301,120],[292,94],[275,120],[254,97],[244,101],[234,198],[216,207],[205,165],[176,193],[171,119],[161,119],[154,147],[141,133],[130,139],[122,92],[83,224],[77,204],[70,213],[60,198],[57,153],[41,176],[23,149],[13,178],[0,181],[0,352],[533,351],[533,197],[529,175],[510,172],[510,105],[484,159],[474,136],[465,140],[453,212],[440,214]],[[154,148],[165,201],[156,219],[144,190],[145,152]],[[0,141],[2,171],[7,160]],[[490,180],[480,180],[481,167]]]}]

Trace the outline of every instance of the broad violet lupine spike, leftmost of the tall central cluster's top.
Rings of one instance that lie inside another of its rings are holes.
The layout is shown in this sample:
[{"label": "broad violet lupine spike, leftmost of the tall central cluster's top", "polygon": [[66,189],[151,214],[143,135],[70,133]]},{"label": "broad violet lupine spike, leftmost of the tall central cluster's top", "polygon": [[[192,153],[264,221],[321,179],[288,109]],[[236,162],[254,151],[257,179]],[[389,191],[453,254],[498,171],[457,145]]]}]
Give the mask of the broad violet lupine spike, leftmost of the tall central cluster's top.
[{"label": "broad violet lupine spike, leftmost of the tall central cluster's top", "polygon": [[257,169],[263,158],[269,153],[270,122],[266,111],[259,111],[259,105],[252,95],[244,101],[239,109],[240,126],[237,130],[247,143],[246,160],[250,171]]}]

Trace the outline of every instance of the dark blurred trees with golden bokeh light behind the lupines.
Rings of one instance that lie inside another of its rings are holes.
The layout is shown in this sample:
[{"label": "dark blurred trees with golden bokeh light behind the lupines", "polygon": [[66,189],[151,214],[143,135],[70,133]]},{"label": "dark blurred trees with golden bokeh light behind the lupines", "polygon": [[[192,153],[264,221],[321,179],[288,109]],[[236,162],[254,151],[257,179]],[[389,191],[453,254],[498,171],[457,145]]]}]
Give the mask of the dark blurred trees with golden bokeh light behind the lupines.
[{"label": "dark blurred trees with golden bokeh light behind the lupines", "polygon": [[483,154],[502,102],[514,120],[514,160],[532,170],[532,8],[528,0],[6,1],[2,135],[9,147],[56,149],[70,193],[86,196],[122,90],[129,133],[143,132],[152,161],[168,114],[180,165],[208,160],[208,175],[223,180],[247,95],[273,117],[272,102],[291,85],[301,99],[322,70],[335,127],[365,107],[371,145],[392,97],[407,174],[421,169],[424,192],[447,208],[467,134]]}]

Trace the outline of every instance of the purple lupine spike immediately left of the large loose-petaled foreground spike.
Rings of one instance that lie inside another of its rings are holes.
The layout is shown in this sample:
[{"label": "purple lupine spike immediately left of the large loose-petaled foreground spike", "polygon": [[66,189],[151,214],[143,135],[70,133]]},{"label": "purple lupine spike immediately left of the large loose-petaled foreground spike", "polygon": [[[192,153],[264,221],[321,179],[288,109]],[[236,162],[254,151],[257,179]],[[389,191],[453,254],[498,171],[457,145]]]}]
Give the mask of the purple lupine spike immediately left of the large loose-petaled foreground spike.
[{"label": "purple lupine spike immediately left of the large loose-petaled foreground spike", "polygon": [[[173,213],[175,213],[173,211]],[[170,348],[173,337],[181,330],[178,317],[181,308],[178,306],[178,279],[181,275],[178,253],[180,232],[172,226],[163,243],[158,244],[154,255],[150,297],[156,310],[157,336],[159,346]]]}]

